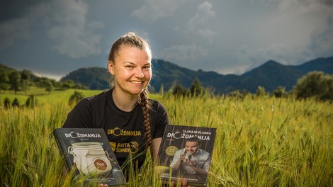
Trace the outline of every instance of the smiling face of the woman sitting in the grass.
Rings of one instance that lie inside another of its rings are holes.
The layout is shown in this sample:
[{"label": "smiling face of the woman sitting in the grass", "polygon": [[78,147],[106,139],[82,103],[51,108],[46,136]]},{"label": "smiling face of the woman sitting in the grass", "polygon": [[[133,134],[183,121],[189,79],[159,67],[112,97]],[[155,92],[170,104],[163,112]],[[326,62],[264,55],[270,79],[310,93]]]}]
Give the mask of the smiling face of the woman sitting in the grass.
[{"label": "smiling face of the woman sitting in the grass", "polygon": [[151,52],[122,45],[115,62],[108,62],[108,71],[115,77],[115,89],[123,94],[140,94],[152,79]]}]

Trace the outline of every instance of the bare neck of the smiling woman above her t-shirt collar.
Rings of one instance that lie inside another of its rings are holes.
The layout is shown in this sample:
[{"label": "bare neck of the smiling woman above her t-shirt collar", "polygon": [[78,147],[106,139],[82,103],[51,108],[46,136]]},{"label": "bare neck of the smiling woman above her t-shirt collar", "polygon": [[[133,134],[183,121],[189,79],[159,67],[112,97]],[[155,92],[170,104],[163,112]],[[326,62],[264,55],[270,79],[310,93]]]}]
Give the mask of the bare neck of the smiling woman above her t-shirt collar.
[{"label": "bare neck of the smiling woman above her t-shirt collar", "polygon": [[137,97],[135,95],[123,94],[118,89],[114,88],[112,91],[112,98],[115,106],[125,112],[133,110],[137,103]]}]

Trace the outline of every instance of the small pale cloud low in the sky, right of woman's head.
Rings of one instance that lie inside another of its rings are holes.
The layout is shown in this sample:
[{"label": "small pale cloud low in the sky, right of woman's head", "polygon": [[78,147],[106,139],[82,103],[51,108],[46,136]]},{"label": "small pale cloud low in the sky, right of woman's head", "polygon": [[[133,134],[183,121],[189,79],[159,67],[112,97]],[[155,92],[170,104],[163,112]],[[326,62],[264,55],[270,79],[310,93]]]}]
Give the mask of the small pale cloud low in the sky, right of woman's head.
[{"label": "small pale cloud low in the sky, right of woman's head", "polygon": [[162,56],[166,60],[196,60],[198,57],[208,55],[208,51],[196,45],[174,45],[162,50]]}]

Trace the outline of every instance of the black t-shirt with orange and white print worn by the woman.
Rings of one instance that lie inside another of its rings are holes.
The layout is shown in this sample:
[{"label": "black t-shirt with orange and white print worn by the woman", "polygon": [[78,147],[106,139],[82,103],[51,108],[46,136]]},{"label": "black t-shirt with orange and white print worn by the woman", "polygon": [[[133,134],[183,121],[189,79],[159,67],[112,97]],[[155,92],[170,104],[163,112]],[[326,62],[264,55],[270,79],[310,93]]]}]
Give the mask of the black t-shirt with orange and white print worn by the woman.
[{"label": "black t-shirt with orange and white print worn by the woman", "polygon": [[[164,106],[152,102],[152,137],[162,137],[169,118]],[[63,128],[103,128],[120,166],[132,153],[142,166],[145,162],[145,128],[142,125],[142,109],[139,105],[132,111],[121,111],[112,98],[112,89],[79,101],[69,112]]]}]

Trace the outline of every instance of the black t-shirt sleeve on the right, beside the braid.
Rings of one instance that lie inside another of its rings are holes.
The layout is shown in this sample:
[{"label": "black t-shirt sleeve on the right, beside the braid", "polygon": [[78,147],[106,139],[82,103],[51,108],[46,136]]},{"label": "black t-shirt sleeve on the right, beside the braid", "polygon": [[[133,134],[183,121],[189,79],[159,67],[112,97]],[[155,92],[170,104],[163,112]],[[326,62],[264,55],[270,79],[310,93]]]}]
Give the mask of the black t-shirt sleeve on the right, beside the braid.
[{"label": "black t-shirt sleeve on the right, beside the braid", "polygon": [[169,124],[169,116],[168,113],[166,111],[166,109],[164,108],[164,106],[162,106],[162,104],[157,103],[157,115],[155,117],[155,130],[154,130],[154,134],[153,134],[153,138],[158,138],[158,137],[163,137],[164,134],[164,130],[166,125]]}]

